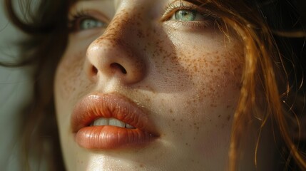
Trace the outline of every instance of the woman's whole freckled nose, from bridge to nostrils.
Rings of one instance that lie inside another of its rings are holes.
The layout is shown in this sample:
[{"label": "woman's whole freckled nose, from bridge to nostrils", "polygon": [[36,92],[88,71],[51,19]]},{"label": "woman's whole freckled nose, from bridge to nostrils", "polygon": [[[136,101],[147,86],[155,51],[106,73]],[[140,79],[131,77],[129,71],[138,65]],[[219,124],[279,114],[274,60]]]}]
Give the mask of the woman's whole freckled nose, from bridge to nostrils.
[{"label": "woman's whole freckled nose, from bridge to nostrils", "polygon": [[133,36],[136,28],[128,19],[113,19],[106,31],[87,49],[86,72],[91,81],[118,78],[122,83],[138,83],[146,74],[146,63]]}]

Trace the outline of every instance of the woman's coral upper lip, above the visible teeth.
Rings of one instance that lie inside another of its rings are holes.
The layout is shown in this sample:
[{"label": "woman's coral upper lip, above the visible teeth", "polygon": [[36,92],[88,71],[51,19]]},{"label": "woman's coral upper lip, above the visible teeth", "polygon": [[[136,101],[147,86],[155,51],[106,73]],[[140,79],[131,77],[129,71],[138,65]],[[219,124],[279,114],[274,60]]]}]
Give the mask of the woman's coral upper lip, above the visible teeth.
[{"label": "woman's coral upper lip, above the visible teeth", "polygon": [[71,116],[73,133],[90,126],[98,118],[116,118],[153,136],[158,135],[148,114],[118,93],[91,93],[79,101]]}]

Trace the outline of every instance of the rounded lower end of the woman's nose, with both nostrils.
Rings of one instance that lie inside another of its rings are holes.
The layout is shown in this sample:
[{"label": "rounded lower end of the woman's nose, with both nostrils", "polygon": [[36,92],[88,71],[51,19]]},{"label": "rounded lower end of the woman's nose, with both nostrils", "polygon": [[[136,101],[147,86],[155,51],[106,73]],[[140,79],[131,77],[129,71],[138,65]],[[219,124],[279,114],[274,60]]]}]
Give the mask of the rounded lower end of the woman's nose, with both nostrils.
[{"label": "rounded lower end of the woman's nose, with both nostrils", "polygon": [[111,42],[108,39],[100,40],[88,48],[88,77],[92,81],[116,77],[126,84],[141,81],[146,73],[143,59],[130,48]]}]

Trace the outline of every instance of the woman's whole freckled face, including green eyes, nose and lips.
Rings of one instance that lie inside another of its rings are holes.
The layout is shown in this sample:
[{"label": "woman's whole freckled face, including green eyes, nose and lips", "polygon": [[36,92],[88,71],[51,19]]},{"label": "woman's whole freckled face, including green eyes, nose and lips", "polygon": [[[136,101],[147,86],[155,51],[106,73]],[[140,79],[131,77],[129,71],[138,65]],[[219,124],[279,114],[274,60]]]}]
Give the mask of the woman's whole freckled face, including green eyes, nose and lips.
[{"label": "woman's whole freckled face, including green eyes, nose and lips", "polygon": [[55,82],[67,170],[225,170],[243,46],[196,7],[173,0],[71,7]]}]

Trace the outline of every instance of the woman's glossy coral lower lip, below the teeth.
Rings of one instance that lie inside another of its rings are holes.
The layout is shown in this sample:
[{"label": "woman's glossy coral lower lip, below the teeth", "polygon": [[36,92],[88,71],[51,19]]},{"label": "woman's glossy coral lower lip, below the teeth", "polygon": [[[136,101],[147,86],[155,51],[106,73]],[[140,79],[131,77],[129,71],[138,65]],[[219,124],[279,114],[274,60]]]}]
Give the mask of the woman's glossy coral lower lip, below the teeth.
[{"label": "woman's glossy coral lower lip, below the teeth", "polygon": [[145,145],[155,136],[139,129],[103,125],[81,128],[75,138],[78,145],[88,149],[115,149]]}]

